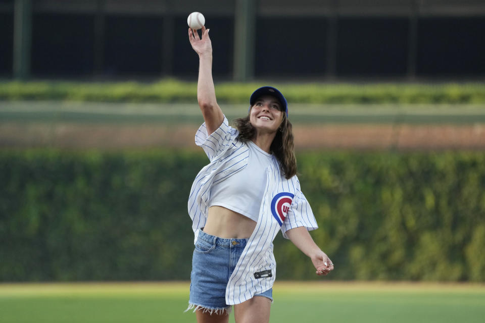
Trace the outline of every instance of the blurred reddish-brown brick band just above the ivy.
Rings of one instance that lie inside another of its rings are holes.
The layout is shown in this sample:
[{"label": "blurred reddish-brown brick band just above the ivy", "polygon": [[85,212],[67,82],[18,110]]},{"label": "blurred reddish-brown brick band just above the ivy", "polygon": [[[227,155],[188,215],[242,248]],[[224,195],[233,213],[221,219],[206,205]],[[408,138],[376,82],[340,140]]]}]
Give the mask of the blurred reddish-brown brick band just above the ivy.
[{"label": "blurred reddish-brown brick band just above the ivy", "polygon": [[[0,122],[0,147],[197,148],[197,126]],[[485,149],[485,124],[295,125],[295,146],[305,149]]]}]

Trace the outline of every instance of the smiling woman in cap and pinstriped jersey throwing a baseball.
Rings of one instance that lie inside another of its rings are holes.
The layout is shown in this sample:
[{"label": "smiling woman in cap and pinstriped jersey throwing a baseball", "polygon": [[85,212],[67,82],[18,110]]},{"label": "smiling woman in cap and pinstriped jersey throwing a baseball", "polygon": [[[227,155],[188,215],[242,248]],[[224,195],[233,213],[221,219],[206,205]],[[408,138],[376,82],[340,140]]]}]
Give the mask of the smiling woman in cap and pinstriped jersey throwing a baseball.
[{"label": "smiling woman in cap and pinstriped jersey throwing a baseball", "polygon": [[188,309],[198,322],[268,322],[278,230],[309,256],[317,275],[333,270],[314,243],[317,228],[296,176],[287,102],[273,87],[257,89],[249,115],[228,125],[216,101],[209,29],[188,30],[199,55],[197,96],[205,123],[196,144],[210,159],[193,182],[188,211],[195,250]]}]

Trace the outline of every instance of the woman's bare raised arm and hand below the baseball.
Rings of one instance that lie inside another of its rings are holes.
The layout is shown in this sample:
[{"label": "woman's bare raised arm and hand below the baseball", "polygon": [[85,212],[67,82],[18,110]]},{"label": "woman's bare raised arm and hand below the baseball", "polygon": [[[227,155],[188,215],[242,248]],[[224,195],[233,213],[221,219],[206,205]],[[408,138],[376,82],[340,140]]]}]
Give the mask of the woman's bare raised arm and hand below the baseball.
[{"label": "woman's bare raised arm and hand below the baseball", "polygon": [[224,121],[222,110],[217,104],[214,81],[212,79],[212,43],[209,29],[202,27],[202,38],[197,30],[188,29],[188,39],[193,50],[199,55],[199,81],[197,83],[197,100],[206,122],[207,134],[210,135]]}]

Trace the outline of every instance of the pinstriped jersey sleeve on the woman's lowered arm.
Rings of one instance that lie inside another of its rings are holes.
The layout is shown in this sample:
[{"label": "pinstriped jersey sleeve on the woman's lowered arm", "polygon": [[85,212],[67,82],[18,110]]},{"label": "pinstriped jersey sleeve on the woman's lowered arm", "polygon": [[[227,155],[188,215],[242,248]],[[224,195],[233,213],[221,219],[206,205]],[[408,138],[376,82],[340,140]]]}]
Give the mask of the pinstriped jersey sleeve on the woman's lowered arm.
[{"label": "pinstriped jersey sleeve on the woman's lowered arm", "polygon": [[295,181],[296,194],[293,198],[292,206],[288,209],[286,218],[281,226],[283,237],[288,239],[286,231],[298,227],[306,227],[308,231],[318,229],[317,221],[313,214],[312,208],[308,203],[305,195],[300,190],[300,182]]}]

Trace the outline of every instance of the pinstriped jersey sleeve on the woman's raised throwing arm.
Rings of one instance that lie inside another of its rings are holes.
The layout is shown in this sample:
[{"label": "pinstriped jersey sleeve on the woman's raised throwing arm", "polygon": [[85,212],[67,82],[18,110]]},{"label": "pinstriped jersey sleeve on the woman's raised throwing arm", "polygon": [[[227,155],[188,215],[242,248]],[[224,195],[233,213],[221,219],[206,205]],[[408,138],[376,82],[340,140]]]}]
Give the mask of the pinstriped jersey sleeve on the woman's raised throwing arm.
[{"label": "pinstriped jersey sleeve on the woman's raised throwing arm", "polygon": [[211,133],[210,136],[207,134],[205,122],[199,127],[196,132],[196,145],[202,147],[209,157],[209,160],[213,161],[224,150],[230,147],[231,142],[235,140],[237,134],[238,131],[229,126],[229,122],[224,116],[224,120],[220,127]]}]

